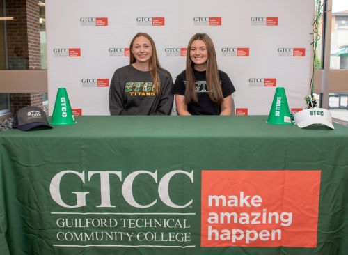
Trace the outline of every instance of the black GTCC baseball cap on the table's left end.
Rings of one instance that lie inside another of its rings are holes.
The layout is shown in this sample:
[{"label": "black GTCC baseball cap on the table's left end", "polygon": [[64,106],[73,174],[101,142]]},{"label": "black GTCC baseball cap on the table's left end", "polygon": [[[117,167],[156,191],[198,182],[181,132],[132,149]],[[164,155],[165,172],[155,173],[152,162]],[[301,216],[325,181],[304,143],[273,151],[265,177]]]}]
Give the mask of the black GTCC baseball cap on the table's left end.
[{"label": "black GTCC baseball cap on the table's left end", "polygon": [[16,112],[13,128],[29,131],[37,127],[52,128],[52,126],[48,124],[45,111],[40,107],[27,106]]}]

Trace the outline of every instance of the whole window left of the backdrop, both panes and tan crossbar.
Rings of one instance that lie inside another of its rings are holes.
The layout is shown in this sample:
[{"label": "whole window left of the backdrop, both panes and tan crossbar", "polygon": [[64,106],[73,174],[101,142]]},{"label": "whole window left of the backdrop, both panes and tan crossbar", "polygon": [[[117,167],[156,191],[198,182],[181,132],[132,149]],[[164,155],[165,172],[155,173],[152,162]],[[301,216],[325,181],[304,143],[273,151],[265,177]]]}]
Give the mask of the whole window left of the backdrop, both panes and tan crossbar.
[{"label": "whole window left of the backdrop, both panes and tan crossbar", "polygon": [[[38,107],[47,105],[47,102],[37,100],[44,98],[47,101],[47,95],[36,93],[47,91],[45,79],[42,79],[47,73],[45,70],[38,72],[39,69],[47,69],[45,21],[45,0],[0,0],[0,93],[3,93],[0,97],[0,114],[8,112],[11,105],[11,111],[27,104]],[[26,80],[32,83],[40,81],[39,89],[27,88]],[[29,101],[22,101],[22,95],[17,91],[24,91]]]}]

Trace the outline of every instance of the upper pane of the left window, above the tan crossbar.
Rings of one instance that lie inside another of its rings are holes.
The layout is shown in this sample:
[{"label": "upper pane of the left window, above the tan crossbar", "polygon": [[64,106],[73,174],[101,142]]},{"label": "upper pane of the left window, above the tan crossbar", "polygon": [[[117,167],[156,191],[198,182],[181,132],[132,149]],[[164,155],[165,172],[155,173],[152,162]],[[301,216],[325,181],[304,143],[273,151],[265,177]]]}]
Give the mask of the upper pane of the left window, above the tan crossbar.
[{"label": "upper pane of the left window, above the tan crossbar", "polygon": [[45,0],[0,0],[0,69],[47,69],[46,59]]}]

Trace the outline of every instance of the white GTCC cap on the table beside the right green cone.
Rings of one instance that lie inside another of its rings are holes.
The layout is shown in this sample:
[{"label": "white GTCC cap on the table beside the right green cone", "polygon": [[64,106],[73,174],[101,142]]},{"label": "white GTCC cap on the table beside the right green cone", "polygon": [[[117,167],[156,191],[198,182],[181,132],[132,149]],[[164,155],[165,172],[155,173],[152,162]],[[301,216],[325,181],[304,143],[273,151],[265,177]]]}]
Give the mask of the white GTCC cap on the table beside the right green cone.
[{"label": "white GTCC cap on the table beside the right green cone", "polygon": [[326,125],[335,129],[332,125],[332,116],[330,111],[324,108],[309,108],[299,111],[294,116],[294,121],[298,127],[308,127],[310,125]]}]

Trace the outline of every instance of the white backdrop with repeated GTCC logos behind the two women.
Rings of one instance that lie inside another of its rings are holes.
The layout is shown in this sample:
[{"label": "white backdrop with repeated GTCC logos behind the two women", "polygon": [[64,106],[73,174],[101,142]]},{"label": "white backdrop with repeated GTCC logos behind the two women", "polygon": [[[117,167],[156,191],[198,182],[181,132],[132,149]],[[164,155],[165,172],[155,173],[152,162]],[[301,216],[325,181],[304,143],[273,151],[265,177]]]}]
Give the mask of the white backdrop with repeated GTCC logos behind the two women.
[{"label": "white backdrop with repeated GTCC logos behind the two women", "polygon": [[268,115],[276,86],[285,87],[291,109],[303,108],[313,12],[314,1],[303,0],[47,0],[49,115],[60,87],[75,114],[109,115],[111,77],[129,63],[138,32],[152,36],[174,80],[185,67],[182,48],[207,33],[237,90],[239,115]]}]

